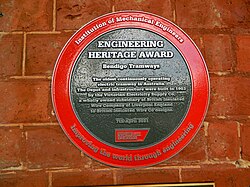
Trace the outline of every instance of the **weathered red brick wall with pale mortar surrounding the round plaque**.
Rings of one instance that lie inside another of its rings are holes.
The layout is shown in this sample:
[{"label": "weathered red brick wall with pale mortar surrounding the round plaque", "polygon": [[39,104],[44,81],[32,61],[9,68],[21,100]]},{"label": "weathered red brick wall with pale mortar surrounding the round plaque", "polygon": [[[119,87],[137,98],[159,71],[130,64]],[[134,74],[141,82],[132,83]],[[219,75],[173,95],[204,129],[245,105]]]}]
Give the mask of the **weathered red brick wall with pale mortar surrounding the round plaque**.
[{"label": "weathered red brick wall with pale mortar surrounding the round plaque", "polygon": [[[69,37],[97,16],[143,10],[184,29],[211,78],[203,127],[177,156],[140,169],[82,154],[55,118],[50,82]],[[249,0],[0,0],[0,186],[215,181],[250,186]]]}]

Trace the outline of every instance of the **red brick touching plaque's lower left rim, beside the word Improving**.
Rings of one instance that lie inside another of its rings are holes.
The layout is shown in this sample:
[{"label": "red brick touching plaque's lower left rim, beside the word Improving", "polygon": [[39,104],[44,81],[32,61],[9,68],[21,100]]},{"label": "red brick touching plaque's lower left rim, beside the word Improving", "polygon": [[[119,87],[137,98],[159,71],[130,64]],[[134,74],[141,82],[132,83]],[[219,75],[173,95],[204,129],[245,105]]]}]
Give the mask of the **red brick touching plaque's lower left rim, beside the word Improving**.
[{"label": "red brick touching plaque's lower left rim, beside the word Improving", "polygon": [[84,157],[59,126],[26,128],[28,168],[84,167]]}]

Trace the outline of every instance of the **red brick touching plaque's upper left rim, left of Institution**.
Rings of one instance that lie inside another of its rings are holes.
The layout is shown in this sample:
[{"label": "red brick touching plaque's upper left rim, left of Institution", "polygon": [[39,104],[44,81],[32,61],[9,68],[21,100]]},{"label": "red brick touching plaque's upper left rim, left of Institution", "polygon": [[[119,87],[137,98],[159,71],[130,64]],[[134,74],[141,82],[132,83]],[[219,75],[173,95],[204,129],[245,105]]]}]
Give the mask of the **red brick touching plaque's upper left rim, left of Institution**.
[{"label": "red brick touching plaque's upper left rim, left of Institution", "polygon": [[56,59],[72,34],[28,35],[26,75],[52,75]]}]

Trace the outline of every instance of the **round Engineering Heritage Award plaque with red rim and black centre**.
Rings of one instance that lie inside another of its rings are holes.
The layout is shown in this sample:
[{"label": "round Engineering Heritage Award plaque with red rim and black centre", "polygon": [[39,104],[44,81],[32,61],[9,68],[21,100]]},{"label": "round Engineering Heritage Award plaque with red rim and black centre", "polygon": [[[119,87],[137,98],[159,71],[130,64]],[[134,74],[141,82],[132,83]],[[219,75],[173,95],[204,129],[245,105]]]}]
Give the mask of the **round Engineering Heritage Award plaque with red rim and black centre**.
[{"label": "round Engineering Heritage Award plaque with red rim and black centre", "polygon": [[67,42],[52,98],[62,129],[84,153],[112,166],[148,166],[178,153],[197,133],[209,78],[179,27],[145,12],[116,12]]}]

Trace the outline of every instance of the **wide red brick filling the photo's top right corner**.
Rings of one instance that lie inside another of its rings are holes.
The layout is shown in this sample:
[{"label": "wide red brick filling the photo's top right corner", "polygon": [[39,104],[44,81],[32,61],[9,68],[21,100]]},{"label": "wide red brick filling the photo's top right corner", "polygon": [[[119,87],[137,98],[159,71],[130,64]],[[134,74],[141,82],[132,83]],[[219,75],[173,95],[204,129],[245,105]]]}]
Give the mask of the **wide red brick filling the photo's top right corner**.
[{"label": "wide red brick filling the photo's top right corner", "polygon": [[183,28],[248,28],[250,12],[247,0],[178,0],[177,23]]}]

